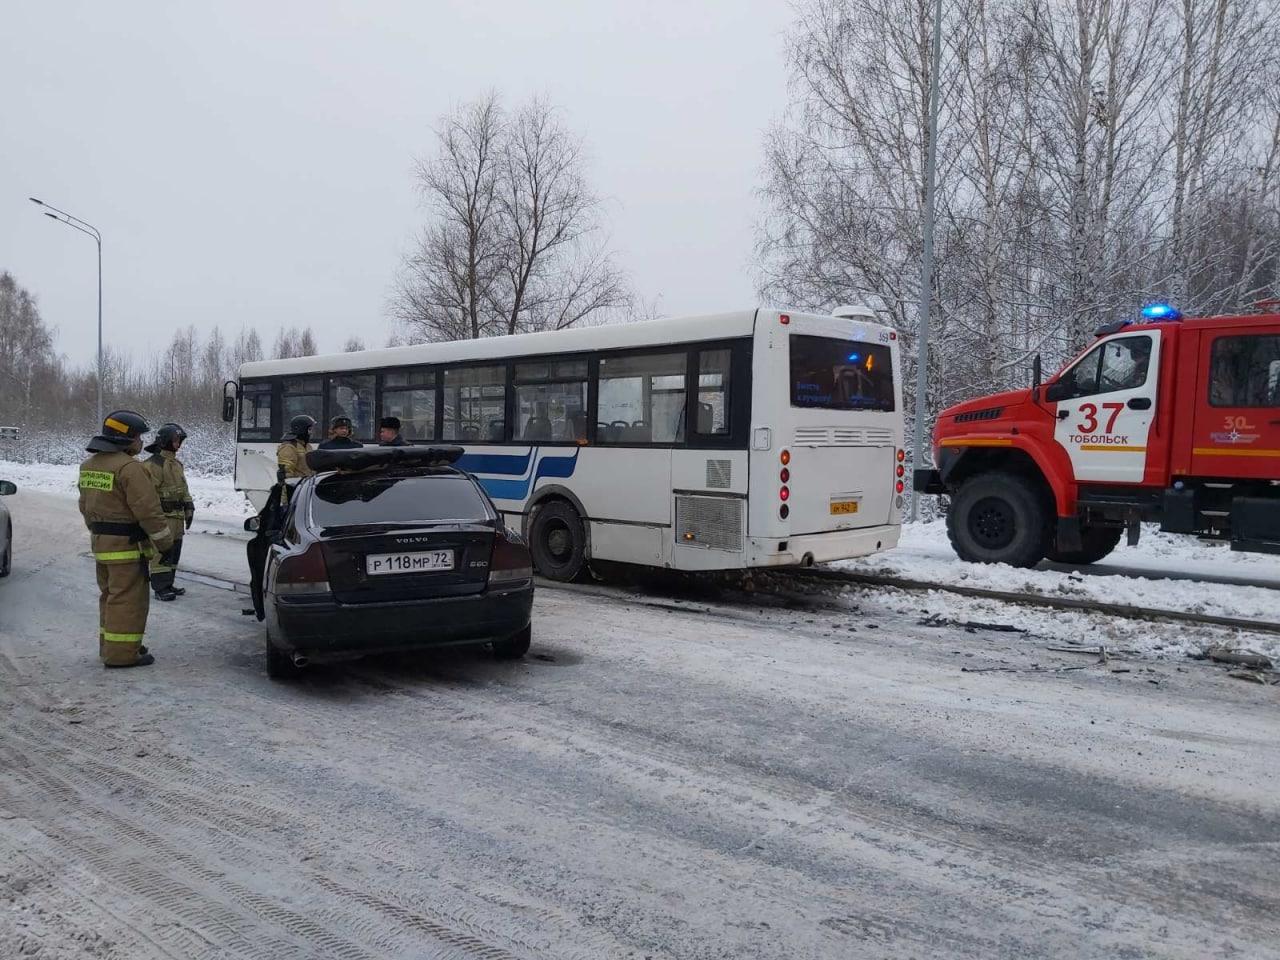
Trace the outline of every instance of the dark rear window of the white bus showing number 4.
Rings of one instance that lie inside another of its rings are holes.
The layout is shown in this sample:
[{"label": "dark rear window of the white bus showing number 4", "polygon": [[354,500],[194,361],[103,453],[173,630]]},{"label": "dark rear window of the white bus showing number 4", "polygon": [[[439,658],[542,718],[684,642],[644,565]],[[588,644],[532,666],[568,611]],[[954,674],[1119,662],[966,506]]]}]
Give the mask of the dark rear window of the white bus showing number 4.
[{"label": "dark rear window of the white bus showing number 4", "polygon": [[893,410],[888,347],[836,337],[791,337],[791,406]]}]

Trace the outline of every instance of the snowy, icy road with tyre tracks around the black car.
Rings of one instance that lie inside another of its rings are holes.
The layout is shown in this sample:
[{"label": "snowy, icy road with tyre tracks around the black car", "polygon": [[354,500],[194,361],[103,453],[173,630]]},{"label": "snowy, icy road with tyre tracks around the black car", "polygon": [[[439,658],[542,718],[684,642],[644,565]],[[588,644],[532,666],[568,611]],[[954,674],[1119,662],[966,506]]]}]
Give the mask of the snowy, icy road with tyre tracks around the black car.
[{"label": "snowy, icy road with tyre tracks around the black car", "polygon": [[280,686],[189,580],[109,673],[74,503],[9,504],[3,957],[1280,957],[1280,687],[603,588]]}]

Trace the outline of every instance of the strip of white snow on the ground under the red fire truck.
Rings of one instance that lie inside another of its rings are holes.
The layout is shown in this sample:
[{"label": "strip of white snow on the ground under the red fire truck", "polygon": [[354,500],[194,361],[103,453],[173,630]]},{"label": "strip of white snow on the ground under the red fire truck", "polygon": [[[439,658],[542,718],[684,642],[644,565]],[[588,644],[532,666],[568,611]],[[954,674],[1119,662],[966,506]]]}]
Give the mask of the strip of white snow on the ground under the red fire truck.
[{"label": "strip of white snow on the ground under the red fire truck", "polygon": [[[1088,572],[1052,564],[1020,570],[965,563],[951,549],[941,520],[905,525],[897,549],[833,566],[937,584],[1280,622],[1280,563],[1274,557],[1233,553],[1225,544],[1161,534],[1153,526],[1144,527],[1138,547],[1121,544]],[[1224,582],[1240,580],[1251,585]]]}]

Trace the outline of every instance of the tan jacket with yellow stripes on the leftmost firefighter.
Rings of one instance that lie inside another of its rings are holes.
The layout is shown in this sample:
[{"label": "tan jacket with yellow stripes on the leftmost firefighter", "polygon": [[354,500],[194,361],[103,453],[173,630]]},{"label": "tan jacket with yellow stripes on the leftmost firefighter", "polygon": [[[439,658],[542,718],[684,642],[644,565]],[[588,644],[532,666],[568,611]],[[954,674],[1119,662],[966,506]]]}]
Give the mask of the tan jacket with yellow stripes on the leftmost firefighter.
[{"label": "tan jacket with yellow stripes on the leftmost firefighter", "polygon": [[128,453],[95,453],[81,463],[79,492],[99,563],[138,563],[173,547],[155,484]]}]

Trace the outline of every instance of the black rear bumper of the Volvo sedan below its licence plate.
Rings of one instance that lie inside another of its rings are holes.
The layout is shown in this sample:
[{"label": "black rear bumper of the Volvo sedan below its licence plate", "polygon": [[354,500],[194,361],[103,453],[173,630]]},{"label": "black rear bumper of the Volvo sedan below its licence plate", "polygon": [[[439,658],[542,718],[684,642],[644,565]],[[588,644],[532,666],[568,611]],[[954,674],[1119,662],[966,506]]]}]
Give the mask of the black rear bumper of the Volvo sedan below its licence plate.
[{"label": "black rear bumper of the Volvo sedan below its licence plate", "polygon": [[479,644],[524,630],[534,607],[532,584],[515,590],[392,603],[269,598],[271,640],[311,659]]}]

